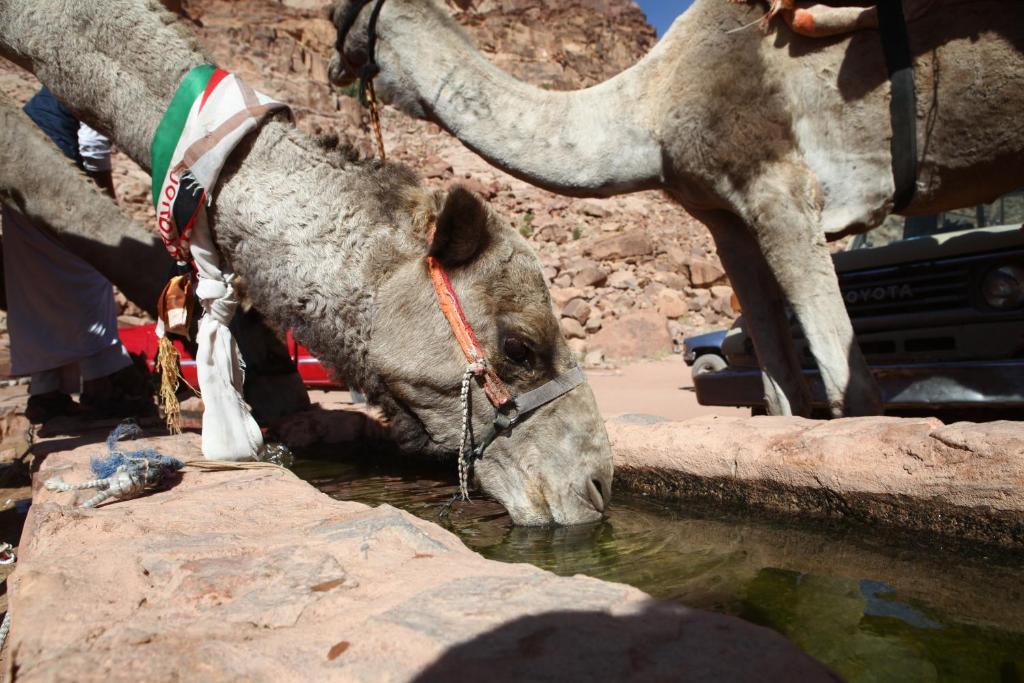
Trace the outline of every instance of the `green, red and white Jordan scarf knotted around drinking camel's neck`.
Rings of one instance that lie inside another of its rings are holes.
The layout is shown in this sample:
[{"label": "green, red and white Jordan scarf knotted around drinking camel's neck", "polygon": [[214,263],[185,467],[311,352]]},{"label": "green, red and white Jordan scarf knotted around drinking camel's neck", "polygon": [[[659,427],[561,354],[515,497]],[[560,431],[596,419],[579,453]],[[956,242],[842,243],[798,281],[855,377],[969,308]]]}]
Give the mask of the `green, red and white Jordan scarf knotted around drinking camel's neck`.
[{"label": "green, red and white Jordan scarf knotted around drinking camel's neck", "polygon": [[[153,205],[167,251],[198,275],[203,307],[196,366],[203,395],[203,455],[251,460],[263,446],[242,394],[245,368],[227,326],[239,300],[234,273],[210,234],[206,208],[234,147],[268,115],[287,106],[210,65],[193,69],[178,86],[151,148]],[[157,184],[158,178],[160,184]],[[170,321],[172,326],[183,321]],[[168,321],[161,319],[163,335]]]}]

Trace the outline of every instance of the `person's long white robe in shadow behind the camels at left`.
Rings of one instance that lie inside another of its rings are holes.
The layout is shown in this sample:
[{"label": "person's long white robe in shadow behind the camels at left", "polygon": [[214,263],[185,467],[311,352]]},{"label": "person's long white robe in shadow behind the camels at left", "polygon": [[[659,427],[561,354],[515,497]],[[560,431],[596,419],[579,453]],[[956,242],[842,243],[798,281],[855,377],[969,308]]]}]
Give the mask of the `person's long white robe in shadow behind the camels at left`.
[{"label": "person's long white robe in shadow behind the camels at left", "polygon": [[17,211],[3,208],[3,264],[13,375],[30,393],[76,393],[131,365],[110,281]]}]

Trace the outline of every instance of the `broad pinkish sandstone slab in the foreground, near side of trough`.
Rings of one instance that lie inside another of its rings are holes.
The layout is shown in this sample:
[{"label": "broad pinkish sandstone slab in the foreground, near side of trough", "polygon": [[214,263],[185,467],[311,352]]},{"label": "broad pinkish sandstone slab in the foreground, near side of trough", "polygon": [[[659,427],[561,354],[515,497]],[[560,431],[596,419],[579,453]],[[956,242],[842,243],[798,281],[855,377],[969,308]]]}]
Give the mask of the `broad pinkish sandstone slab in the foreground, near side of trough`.
[{"label": "broad pinkish sandstone slab in the foreground, near side of trough", "polygon": [[[142,444],[200,457],[196,435]],[[84,479],[101,451],[55,453],[37,481]],[[766,629],[484,560],[283,470],[186,468],[141,499],[72,500],[35,492],[10,580],[19,681],[836,680]]]}]

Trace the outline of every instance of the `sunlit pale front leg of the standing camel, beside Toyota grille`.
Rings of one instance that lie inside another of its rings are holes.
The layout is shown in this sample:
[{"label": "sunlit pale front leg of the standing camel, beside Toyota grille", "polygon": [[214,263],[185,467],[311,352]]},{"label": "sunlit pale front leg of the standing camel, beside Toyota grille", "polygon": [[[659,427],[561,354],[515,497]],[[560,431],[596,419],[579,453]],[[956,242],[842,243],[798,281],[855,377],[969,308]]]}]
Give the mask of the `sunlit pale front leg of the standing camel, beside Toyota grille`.
[{"label": "sunlit pale front leg of the standing camel, beside Toyota grille", "polygon": [[751,226],[761,252],[803,328],[833,417],[879,415],[882,399],[853,336],[816,198],[807,172],[785,165],[750,186]]}]

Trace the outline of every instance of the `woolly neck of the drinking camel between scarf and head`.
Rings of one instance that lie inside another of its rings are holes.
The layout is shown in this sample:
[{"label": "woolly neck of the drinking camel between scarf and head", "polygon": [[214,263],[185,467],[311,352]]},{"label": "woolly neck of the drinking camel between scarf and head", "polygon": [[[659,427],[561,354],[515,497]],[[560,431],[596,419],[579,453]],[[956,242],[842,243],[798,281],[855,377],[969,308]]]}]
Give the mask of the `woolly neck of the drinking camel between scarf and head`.
[{"label": "woolly neck of the drinking camel between scarf and head", "polygon": [[379,380],[366,355],[387,274],[381,254],[396,267],[416,249],[392,204],[408,180],[393,167],[344,163],[282,122],[239,152],[245,162],[225,168],[214,202],[221,253],[279,329],[294,331],[355,386],[373,387]]}]

